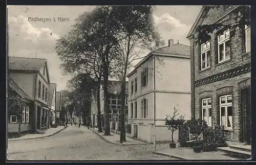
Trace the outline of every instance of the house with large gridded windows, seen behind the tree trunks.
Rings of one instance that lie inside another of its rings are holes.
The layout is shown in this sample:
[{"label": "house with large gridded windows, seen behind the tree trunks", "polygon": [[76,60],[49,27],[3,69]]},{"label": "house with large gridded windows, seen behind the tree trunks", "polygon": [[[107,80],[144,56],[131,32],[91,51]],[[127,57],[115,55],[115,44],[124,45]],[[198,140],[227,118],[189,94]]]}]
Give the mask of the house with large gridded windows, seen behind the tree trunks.
[{"label": "house with large gridded windows, seen behind the tree trunks", "polygon": [[[126,83],[126,95],[127,95],[127,83]],[[118,123],[121,120],[121,81],[111,81],[109,80],[109,98],[108,98],[108,109],[109,109],[109,121],[111,123]],[[100,112],[102,119],[102,127],[104,127],[104,97],[103,97],[103,88],[100,87]],[[97,91],[92,91],[92,102],[91,102],[91,125],[98,125],[98,110],[97,110]],[[127,106],[127,97],[125,99],[125,122],[128,122],[128,106]]]}]

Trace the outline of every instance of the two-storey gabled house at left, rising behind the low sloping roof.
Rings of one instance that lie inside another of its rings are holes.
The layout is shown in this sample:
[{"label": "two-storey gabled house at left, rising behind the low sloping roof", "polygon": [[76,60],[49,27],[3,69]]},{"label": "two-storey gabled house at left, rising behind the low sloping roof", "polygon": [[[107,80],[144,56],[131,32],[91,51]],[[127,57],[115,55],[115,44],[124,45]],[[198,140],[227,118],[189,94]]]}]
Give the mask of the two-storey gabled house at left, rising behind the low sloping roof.
[{"label": "two-storey gabled house at left, rising behind the low sloping roof", "polygon": [[[46,59],[8,58],[8,76],[31,98],[27,116],[32,132],[49,128],[49,71]],[[26,120],[26,119],[25,119]]]}]

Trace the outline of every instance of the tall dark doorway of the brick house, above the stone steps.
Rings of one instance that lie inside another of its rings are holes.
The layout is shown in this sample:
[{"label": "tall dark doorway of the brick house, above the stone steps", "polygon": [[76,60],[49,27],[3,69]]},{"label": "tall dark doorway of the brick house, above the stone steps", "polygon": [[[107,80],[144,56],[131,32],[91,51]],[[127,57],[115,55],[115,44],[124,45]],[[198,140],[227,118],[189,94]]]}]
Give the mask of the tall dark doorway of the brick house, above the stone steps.
[{"label": "tall dark doorway of the brick house, above the stone steps", "polygon": [[242,143],[251,144],[251,88],[241,89]]}]

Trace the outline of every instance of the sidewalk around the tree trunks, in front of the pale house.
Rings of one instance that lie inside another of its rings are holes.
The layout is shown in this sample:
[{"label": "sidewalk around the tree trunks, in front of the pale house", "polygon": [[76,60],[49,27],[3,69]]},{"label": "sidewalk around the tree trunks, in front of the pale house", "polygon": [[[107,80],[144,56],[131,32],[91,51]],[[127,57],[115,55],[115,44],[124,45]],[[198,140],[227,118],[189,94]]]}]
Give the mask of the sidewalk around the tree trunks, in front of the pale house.
[{"label": "sidewalk around the tree trunks, in front of the pale house", "polygon": [[120,134],[110,132],[110,136],[105,136],[104,131],[98,132],[98,128],[90,128],[94,133],[98,134],[102,139],[106,140],[106,142],[117,145],[146,145],[148,143],[142,142],[141,140],[137,140],[131,137],[126,136],[126,142],[120,143]]}]

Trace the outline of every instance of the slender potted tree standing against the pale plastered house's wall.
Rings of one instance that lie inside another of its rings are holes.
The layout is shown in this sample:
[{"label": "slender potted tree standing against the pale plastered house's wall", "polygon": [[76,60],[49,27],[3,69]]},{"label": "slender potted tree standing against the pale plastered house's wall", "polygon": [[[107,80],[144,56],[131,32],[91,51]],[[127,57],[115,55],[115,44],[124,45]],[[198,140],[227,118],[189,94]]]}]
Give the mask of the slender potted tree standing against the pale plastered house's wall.
[{"label": "slender potted tree standing against the pale plastered house's wall", "polygon": [[172,131],[172,143],[169,144],[170,148],[176,148],[176,143],[174,143],[174,132],[183,125],[184,117],[181,115],[179,118],[176,118],[179,115],[178,110],[174,107],[173,116],[166,115],[165,125],[168,126],[168,130]]}]

